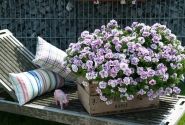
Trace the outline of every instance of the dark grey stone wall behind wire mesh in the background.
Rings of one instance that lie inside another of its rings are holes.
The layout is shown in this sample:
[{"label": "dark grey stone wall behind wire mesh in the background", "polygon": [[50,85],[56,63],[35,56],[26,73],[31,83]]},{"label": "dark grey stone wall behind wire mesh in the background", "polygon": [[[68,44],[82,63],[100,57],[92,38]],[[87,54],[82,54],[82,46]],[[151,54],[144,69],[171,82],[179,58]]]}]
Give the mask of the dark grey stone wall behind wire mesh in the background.
[{"label": "dark grey stone wall behind wire mesh in the background", "polygon": [[35,52],[36,36],[65,49],[83,30],[94,30],[110,19],[122,27],[133,21],[166,24],[185,41],[185,0],[146,0],[136,5],[108,2],[94,5],[75,0],[0,0],[0,29],[9,29]]}]

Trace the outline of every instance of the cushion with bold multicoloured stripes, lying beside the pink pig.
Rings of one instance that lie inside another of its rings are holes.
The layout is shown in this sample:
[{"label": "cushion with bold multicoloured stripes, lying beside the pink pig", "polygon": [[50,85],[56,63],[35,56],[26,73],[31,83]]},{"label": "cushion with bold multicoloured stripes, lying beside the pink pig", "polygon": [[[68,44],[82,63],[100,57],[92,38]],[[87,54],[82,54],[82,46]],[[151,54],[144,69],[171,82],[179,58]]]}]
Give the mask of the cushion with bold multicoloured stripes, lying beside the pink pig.
[{"label": "cushion with bold multicoloured stripes, lying beside the pink pig", "polygon": [[44,69],[10,73],[10,81],[20,105],[64,85],[60,75]]}]

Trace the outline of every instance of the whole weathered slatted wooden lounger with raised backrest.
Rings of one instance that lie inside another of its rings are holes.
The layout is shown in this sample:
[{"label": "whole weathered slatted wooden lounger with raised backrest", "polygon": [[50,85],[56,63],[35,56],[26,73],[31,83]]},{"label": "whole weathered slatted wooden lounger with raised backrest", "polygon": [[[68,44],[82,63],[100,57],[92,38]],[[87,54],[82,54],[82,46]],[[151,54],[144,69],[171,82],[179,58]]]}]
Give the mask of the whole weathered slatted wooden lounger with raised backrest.
[{"label": "whole weathered slatted wooden lounger with raised backrest", "polygon": [[[8,73],[37,68],[31,62],[33,58],[33,54],[10,31],[0,31],[0,85],[3,88],[3,90],[0,89],[0,111],[72,125],[157,125],[163,124],[165,120],[168,121],[169,116],[172,115],[170,111],[180,98],[182,102],[179,105],[184,105],[185,102],[184,96],[178,98],[161,97],[160,106],[155,110],[92,117],[82,107],[78,99],[76,85],[69,82],[63,88],[66,93],[70,94],[70,103],[66,109],[61,110],[60,107],[54,105],[53,93],[38,97],[21,107],[16,101]],[[176,116],[175,123],[181,115]]]}]

